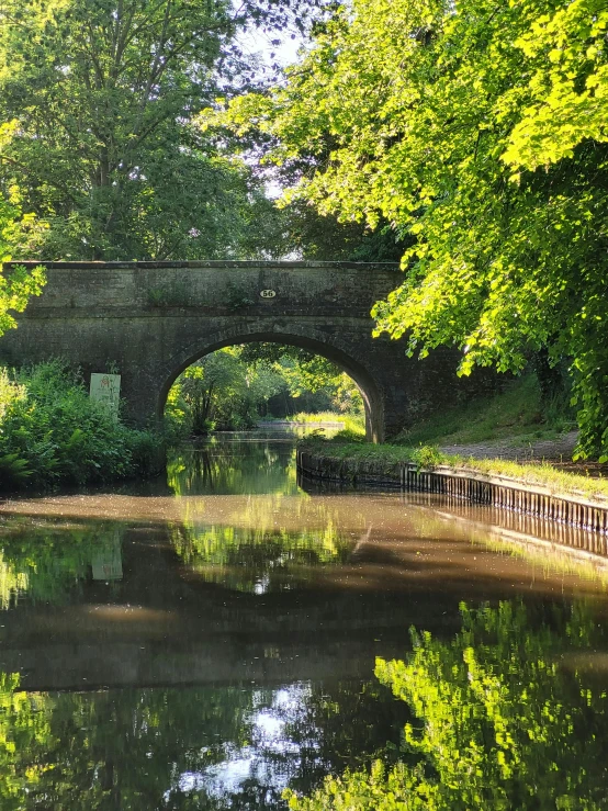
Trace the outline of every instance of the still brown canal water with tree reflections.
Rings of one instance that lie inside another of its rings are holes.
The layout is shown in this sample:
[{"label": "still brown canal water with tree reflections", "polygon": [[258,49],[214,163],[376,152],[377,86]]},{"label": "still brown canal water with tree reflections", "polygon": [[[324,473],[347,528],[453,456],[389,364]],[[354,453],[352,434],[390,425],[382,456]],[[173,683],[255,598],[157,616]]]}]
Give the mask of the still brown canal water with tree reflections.
[{"label": "still brown canal water with tree reflections", "polygon": [[608,575],[496,538],[299,482],[288,435],[0,503],[0,809],[281,809],[378,758],[453,808],[608,808]]}]

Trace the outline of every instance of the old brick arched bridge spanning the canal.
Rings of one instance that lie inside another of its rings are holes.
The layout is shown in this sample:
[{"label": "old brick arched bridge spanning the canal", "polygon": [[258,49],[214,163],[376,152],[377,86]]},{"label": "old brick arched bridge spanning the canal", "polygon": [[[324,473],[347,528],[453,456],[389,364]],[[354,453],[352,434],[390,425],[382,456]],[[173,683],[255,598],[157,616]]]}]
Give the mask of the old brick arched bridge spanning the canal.
[{"label": "old brick arched bridge spanning the canal", "polygon": [[[34,266],[37,262],[22,262]],[[372,338],[370,309],[396,288],[392,264],[353,262],[46,262],[47,284],[0,338],[11,365],[61,357],[122,375],[138,425],[162,415],[176,378],[209,352],[274,341],[325,356],[359,385],[368,437],[383,441],[457,395],[453,350],[424,361]]]}]

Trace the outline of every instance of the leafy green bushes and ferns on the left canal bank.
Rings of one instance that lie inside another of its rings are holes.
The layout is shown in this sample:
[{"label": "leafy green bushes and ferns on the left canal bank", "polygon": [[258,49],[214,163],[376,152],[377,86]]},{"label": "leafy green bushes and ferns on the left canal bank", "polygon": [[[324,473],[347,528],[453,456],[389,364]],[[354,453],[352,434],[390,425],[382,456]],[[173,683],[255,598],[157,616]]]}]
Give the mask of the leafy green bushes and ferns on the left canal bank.
[{"label": "leafy green bushes and ferns on the left canal bank", "polygon": [[164,462],[159,435],[115,420],[60,362],[0,368],[0,489],[144,477]]}]

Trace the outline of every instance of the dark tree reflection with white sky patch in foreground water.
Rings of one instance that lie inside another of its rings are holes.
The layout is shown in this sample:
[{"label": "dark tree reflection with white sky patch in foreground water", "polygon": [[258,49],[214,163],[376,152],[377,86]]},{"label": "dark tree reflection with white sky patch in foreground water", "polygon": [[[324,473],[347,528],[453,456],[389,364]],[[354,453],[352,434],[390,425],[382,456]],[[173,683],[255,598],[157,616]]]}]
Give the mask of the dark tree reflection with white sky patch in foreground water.
[{"label": "dark tree reflection with white sky patch in foreground water", "polygon": [[[0,679],[0,800],[33,808],[277,809],[398,741],[378,682],[94,694]],[[384,709],[383,709],[384,708]]]}]

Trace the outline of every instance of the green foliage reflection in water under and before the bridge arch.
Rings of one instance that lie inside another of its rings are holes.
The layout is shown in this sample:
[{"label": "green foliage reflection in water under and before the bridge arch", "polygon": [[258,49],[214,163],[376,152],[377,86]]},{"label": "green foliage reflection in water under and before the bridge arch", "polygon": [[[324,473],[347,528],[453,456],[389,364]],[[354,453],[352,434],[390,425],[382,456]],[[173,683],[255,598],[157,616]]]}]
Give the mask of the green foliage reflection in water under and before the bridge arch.
[{"label": "green foliage reflection in water under and before the bridge arch", "polygon": [[[191,571],[210,583],[264,594],[307,581],[311,566],[347,561],[357,539],[338,530],[337,517],[325,505],[316,505],[311,515],[311,499],[297,488],[294,452],[291,443],[237,440],[183,451],[172,461],[168,481],[177,495],[263,495],[247,498],[241,514],[230,511],[223,523],[211,526],[204,502],[184,502],[171,541]],[[288,507],[282,499],[292,496]],[[299,529],[282,526],[286,512],[293,523],[304,511]],[[363,515],[359,526],[364,532]]]}]

